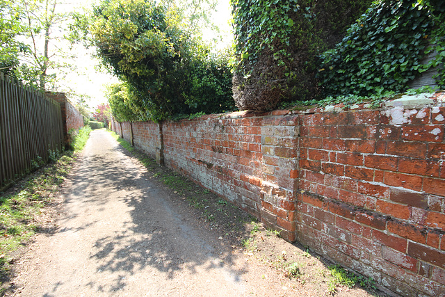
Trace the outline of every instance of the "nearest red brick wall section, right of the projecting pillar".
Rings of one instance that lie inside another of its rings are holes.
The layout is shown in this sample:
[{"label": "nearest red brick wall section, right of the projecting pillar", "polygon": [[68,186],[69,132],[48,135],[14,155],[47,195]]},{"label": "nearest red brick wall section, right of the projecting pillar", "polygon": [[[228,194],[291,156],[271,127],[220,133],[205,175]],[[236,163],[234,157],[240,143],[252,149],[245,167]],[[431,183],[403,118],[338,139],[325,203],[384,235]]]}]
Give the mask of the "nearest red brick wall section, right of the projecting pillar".
[{"label": "nearest red brick wall section, right of the projecting pillar", "polygon": [[444,114],[302,115],[298,241],[399,294],[443,296]]}]

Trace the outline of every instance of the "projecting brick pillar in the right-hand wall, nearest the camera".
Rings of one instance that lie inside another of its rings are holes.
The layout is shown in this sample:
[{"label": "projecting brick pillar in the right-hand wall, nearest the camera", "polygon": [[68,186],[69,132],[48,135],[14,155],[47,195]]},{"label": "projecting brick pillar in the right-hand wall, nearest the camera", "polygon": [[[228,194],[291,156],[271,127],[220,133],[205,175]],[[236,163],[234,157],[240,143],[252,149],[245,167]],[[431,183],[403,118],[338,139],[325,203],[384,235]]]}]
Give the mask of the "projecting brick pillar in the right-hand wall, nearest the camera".
[{"label": "projecting brick pillar in the right-hand wall, nearest the camera", "polygon": [[261,221],[291,242],[296,240],[299,131],[295,115],[270,115],[261,126]]}]

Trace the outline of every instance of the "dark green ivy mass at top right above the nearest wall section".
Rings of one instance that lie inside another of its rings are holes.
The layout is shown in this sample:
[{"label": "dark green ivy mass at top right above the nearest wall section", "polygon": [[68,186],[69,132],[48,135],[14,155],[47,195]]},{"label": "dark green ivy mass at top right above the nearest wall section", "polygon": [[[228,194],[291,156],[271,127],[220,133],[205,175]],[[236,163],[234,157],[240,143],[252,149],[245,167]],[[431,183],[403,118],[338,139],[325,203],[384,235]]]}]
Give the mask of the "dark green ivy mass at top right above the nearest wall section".
[{"label": "dark green ivy mass at top right above the nearest wall section", "polygon": [[[334,49],[321,55],[325,95],[403,92],[421,72],[445,61],[443,1],[376,1]],[[428,46],[429,45],[429,46]],[[428,64],[421,58],[437,55]],[[436,78],[445,87],[442,67]]]}]

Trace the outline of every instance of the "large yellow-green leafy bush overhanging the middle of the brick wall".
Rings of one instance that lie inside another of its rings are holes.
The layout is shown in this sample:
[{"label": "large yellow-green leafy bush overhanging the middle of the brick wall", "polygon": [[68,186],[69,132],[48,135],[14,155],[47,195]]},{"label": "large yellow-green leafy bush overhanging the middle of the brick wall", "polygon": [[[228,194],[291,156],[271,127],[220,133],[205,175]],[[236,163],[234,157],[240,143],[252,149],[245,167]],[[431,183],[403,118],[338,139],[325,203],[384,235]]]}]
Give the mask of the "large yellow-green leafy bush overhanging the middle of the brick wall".
[{"label": "large yellow-green leafy bush overhanging the middle of the brick wall", "polygon": [[143,0],[106,0],[95,8],[91,31],[99,56],[124,81],[120,90],[112,87],[116,120],[157,121],[232,107],[227,58],[212,56],[180,15],[174,6]]}]

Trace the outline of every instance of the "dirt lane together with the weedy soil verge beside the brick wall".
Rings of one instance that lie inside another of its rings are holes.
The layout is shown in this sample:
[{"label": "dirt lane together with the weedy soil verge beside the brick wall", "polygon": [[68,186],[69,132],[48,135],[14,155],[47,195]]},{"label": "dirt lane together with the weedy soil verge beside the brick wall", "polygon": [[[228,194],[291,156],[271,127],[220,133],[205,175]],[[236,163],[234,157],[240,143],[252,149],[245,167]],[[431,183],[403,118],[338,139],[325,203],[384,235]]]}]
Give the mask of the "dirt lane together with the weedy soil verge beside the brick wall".
[{"label": "dirt lane together with the weedy soil verge beside the brick wall", "polygon": [[6,296],[385,295],[104,130],[54,201]]}]

